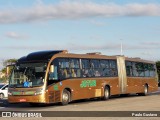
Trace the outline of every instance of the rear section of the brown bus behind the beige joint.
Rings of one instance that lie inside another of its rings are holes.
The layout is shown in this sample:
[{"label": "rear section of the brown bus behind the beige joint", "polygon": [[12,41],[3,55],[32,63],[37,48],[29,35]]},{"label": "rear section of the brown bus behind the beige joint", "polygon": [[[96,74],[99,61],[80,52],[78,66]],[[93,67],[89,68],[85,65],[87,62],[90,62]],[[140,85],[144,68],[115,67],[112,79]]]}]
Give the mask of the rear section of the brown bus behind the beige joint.
[{"label": "rear section of the brown bus behind the beige joint", "polygon": [[125,59],[127,93],[147,95],[158,90],[158,79],[154,62],[140,58]]}]

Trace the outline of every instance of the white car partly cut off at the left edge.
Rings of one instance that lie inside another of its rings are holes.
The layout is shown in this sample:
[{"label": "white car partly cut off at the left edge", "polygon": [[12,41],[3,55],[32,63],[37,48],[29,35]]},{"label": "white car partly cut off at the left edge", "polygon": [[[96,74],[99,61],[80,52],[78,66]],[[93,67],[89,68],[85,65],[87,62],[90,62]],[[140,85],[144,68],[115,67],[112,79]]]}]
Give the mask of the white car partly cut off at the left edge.
[{"label": "white car partly cut off at the left edge", "polygon": [[8,84],[0,84],[0,98],[8,97]]}]

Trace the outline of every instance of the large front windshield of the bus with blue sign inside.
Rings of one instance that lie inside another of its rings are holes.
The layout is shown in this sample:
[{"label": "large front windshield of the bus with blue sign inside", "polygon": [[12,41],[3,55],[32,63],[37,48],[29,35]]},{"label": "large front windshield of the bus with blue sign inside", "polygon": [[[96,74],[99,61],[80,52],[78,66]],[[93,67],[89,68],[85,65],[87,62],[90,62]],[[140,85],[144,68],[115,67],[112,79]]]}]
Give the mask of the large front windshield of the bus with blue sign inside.
[{"label": "large front windshield of the bus with blue sign inside", "polygon": [[16,65],[9,79],[10,87],[38,87],[44,84],[46,63]]}]

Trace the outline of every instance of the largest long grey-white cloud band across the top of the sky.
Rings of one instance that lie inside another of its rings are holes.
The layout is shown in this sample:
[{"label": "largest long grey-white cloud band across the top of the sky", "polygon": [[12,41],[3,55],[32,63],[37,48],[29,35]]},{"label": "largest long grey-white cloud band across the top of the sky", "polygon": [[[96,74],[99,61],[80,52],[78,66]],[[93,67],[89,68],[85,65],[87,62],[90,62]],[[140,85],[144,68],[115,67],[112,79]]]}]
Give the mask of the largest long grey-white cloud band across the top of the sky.
[{"label": "largest long grey-white cloud band across the top of the sky", "polygon": [[160,16],[160,4],[119,5],[80,1],[61,1],[49,5],[38,3],[30,8],[1,9],[0,24],[117,16]]}]

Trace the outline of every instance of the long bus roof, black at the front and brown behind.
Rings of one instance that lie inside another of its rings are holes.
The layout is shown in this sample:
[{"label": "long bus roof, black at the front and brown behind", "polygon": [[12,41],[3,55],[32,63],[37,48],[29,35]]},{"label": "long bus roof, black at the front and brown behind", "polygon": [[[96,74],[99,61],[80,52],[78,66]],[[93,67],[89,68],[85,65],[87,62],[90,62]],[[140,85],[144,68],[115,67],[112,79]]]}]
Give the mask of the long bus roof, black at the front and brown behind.
[{"label": "long bus roof, black at the front and brown behind", "polygon": [[123,55],[107,56],[107,55],[101,55],[100,52],[86,53],[86,54],[73,54],[73,53],[68,53],[67,50],[55,50],[55,51],[50,50],[50,51],[33,52],[33,53],[28,54],[27,56],[21,57],[18,60],[18,62],[22,63],[22,62],[48,61],[48,60],[53,59],[55,57],[116,59],[119,56],[124,57],[128,61],[154,63],[153,61],[143,60],[140,58],[129,58],[129,57],[125,57]]}]

